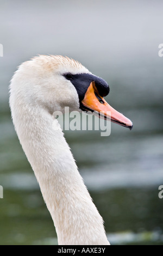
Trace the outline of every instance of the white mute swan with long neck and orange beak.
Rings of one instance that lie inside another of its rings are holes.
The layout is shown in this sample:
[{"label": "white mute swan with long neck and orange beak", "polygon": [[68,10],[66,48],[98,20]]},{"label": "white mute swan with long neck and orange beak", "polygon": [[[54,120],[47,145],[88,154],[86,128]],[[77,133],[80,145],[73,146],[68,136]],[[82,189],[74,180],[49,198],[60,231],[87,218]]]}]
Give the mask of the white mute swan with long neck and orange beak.
[{"label": "white mute swan with long neck and orange beak", "polygon": [[109,86],[78,61],[39,55],[22,63],[11,78],[9,105],[22,149],[34,170],[51,214],[59,245],[110,245],[103,218],[78,172],[53,112],[111,111],[114,123],[132,122],[104,99]]}]

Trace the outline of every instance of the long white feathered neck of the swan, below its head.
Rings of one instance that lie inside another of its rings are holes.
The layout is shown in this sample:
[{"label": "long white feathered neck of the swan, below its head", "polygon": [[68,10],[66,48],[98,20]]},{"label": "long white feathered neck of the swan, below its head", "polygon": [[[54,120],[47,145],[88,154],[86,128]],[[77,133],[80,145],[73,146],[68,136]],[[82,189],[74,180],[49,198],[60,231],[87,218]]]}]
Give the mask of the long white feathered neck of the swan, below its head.
[{"label": "long white feathered neck of the swan, below its head", "polygon": [[64,134],[55,129],[58,121],[45,109],[26,108],[21,113],[13,115],[15,129],[53,218],[59,245],[108,245],[102,217]]}]

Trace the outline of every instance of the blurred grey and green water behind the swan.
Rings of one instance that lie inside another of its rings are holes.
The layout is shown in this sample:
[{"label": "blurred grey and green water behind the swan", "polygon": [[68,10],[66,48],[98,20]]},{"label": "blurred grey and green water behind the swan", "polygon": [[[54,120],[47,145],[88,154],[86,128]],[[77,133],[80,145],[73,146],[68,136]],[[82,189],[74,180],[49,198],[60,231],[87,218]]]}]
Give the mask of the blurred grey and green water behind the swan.
[{"label": "blurred grey and green water behind the swan", "polygon": [[163,2],[0,0],[0,244],[57,244],[51,216],[14,131],[8,86],[37,54],[79,60],[110,85],[106,100],[133,121],[101,131],[66,131],[112,245],[163,245]]}]

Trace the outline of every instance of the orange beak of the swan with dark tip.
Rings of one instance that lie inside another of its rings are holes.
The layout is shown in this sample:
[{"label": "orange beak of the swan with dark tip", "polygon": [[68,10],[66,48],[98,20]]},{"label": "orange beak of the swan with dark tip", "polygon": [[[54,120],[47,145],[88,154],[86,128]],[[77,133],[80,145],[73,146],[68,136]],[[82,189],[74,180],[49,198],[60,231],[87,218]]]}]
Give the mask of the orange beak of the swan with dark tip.
[{"label": "orange beak of the swan with dark tip", "polygon": [[111,120],[113,123],[117,123],[124,127],[128,127],[130,130],[133,128],[133,123],[123,114],[112,108],[104,99],[98,94],[98,90],[95,86],[95,82],[91,82],[89,88],[85,93],[84,99],[82,100],[83,109],[91,111],[96,114],[102,113],[99,117]]}]

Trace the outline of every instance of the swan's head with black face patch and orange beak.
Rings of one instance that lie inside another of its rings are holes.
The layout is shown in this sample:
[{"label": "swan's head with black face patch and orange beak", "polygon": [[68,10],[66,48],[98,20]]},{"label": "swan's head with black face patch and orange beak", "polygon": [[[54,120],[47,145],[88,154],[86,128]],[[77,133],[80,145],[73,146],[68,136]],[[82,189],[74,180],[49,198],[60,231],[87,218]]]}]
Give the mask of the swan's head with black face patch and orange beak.
[{"label": "swan's head with black face patch and orange beak", "polygon": [[[11,83],[12,94],[16,92],[19,106],[21,103],[26,103],[28,109],[29,106],[42,106],[49,113],[64,113],[65,106],[70,111],[103,111],[105,118],[114,123],[129,129],[133,127],[128,118],[103,99],[109,93],[108,83],[68,57],[34,57],[20,65]],[[111,116],[107,112],[111,112]]]}]

